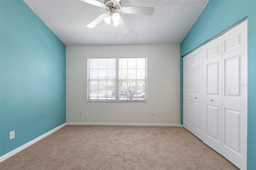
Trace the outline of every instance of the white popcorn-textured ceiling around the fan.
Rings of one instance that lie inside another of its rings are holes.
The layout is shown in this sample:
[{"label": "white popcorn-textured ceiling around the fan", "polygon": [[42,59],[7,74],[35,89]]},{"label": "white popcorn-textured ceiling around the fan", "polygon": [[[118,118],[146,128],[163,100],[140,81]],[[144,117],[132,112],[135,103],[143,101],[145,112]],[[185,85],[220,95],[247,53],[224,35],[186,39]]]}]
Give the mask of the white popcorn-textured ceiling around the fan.
[{"label": "white popcorn-textured ceiling around the fan", "polygon": [[[98,0],[104,2],[104,0]],[[120,12],[130,32],[100,22],[86,25],[102,13],[78,0],[24,0],[65,45],[126,45],[181,43],[209,0],[121,0],[122,6],[154,7],[153,16]]]}]

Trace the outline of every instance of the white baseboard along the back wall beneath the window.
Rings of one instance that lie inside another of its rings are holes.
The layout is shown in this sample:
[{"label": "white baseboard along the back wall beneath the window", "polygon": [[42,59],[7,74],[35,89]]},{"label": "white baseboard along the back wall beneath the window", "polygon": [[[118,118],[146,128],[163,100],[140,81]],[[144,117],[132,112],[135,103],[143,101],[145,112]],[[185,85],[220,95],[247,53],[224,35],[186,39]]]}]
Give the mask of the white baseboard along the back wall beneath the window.
[{"label": "white baseboard along the back wall beneath the window", "polygon": [[110,126],[160,126],[160,127],[181,127],[176,123],[66,123],[66,125],[110,125]]}]

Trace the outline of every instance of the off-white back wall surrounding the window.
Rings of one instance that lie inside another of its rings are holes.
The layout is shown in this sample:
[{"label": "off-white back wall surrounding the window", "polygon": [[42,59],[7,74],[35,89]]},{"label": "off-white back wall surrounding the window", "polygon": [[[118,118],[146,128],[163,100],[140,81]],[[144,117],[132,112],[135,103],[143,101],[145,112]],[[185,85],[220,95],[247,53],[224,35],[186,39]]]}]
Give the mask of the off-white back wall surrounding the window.
[{"label": "off-white back wall surrounding the window", "polygon": [[[148,57],[147,102],[86,101],[87,58],[116,56]],[[67,46],[66,122],[180,124],[180,45]]]}]

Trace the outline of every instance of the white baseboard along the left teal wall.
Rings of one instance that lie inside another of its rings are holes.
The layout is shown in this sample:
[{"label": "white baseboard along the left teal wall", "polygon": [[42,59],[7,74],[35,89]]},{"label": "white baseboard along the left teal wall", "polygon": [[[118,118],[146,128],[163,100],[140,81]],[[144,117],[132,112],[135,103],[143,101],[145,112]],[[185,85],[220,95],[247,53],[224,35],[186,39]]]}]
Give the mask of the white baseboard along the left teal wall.
[{"label": "white baseboard along the left teal wall", "polygon": [[8,152],[7,154],[4,154],[3,156],[0,157],[0,162],[6,160],[7,158],[10,158],[14,154],[20,152],[21,150],[27,148],[30,145],[36,143],[37,141],[41,140],[42,138],[48,136],[49,134],[59,130],[60,128],[64,127],[65,125],[66,125],[66,123],[64,123],[64,124],[54,128],[54,129],[50,130],[49,132],[46,132],[45,134],[42,134],[41,136],[39,136],[39,137],[35,138],[34,140],[31,140],[30,142],[28,142],[28,143],[26,143],[26,144],[24,144],[24,145],[22,145],[22,146],[20,146],[20,147],[18,147],[16,149],[12,150],[11,152]]}]

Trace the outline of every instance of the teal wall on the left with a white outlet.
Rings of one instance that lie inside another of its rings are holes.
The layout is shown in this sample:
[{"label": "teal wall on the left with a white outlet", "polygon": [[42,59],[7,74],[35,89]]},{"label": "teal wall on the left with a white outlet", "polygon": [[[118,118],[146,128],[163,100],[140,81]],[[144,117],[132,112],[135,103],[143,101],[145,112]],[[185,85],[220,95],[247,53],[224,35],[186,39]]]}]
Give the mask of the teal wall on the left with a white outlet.
[{"label": "teal wall on the left with a white outlet", "polygon": [[3,156],[66,122],[66,46],[22,0],[0,0],[0,22]]}]

